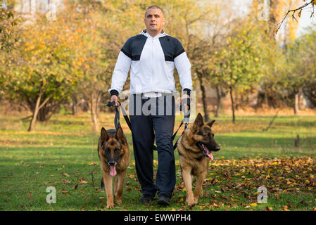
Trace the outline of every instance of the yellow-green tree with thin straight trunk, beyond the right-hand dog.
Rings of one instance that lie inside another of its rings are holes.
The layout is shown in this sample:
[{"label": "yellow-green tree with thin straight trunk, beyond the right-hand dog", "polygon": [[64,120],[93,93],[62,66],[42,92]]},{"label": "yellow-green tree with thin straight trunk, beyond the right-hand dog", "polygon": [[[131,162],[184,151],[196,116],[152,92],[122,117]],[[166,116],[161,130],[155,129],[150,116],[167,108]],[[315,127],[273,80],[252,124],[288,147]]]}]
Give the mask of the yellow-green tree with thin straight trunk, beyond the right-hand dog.
[{"label": "yellow-green tree with thin straight trunk, beyond the right-hand dog", "polygon": [[234,92],[243,94],[259,82],[263,73],[265,35],[260,26],[247,18],[237,18],[226,40],[217,52],[215,63],[217,83],[229,91],[232,103],[232,122],[235,122]]}]

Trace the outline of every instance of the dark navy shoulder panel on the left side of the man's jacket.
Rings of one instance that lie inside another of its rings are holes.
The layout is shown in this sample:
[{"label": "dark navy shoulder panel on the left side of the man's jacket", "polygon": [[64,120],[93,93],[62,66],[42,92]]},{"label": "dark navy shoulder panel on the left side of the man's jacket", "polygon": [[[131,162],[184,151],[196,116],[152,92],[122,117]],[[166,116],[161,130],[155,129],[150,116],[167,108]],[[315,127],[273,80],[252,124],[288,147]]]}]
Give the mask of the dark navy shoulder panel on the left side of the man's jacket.
[{"label": "dark navy shoulder panel on the left side of the man's jacket", "polygon": [[142,34],[130,37],[122,47],[121,51],[132,60],[140,60],[141,51],[144,49],[146,39],[147,37]]}]

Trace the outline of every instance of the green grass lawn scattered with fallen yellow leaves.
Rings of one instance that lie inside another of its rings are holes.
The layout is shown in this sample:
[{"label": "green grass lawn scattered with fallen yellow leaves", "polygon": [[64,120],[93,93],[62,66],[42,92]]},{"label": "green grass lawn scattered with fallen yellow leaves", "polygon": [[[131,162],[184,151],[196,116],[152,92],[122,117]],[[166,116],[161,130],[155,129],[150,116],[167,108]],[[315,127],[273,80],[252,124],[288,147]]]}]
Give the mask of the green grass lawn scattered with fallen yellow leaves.
[{"label": "green grass lawn scattered with fallen yellow leaves", "polygon": [[[102,126],[113,128],[113,117],[102,114]],[[170,207],[160,207],[156,200],[139,203],[132,137],[122,122],[131,162],[123,203],[114,210],[316,210],[316,116],[280,116],[263,131],[272,117],[237,117],[236,124],[229,116],[217,119],[213,130],[221,150],[213,154],[205,196],[191,209],[185,205],[177,150]],[[177,116],[175,128],[181,120]],[[99,191],[99,136],[90,121],[89,114],[54,115],[27,132],[28,120],[0,115],[0,210],[107,210],[106,193]],[[300,143],[293,147],[297,134]],[[56,204],[46,203],[49,186],[56,188]],[[257,203],[259,186],[267,188],[267,203]]]}]

